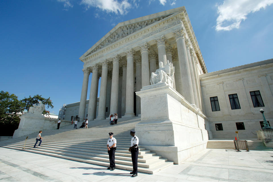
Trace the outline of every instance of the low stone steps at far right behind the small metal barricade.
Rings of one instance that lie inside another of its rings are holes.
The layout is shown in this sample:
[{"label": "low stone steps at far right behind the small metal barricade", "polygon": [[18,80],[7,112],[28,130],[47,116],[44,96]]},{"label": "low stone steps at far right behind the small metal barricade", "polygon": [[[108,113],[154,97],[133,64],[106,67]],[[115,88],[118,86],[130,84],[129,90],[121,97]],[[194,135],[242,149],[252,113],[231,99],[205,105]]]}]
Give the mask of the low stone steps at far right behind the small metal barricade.
[{"label": "low stone steps at far right behind the small metal barricade", "polygon": [[[266,147],[262,141],[247,140],[249,150],[271,150],[272,148]],[[208,140],[207,148],[222,148],[222,149],[235,149],[233,140]]]}]

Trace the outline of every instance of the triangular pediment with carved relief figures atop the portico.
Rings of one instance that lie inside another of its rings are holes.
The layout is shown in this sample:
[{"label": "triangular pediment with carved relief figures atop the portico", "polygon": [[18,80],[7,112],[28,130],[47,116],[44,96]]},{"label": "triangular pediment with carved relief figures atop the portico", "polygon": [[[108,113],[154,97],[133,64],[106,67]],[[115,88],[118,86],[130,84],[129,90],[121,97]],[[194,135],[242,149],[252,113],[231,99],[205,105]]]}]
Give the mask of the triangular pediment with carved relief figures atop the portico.
[{"label": "triangular pediment with carved relief figures atop the portico", "polygon": [[114,42],[128,35],[131,35],[151,24],[154,24],[160,20],[163,20],[164,18],[167,18],[168,16],[171,16],[183,10],[185,10],[185,7],[179,7],[152,15],[135,18],[133,20],[121,22],[117,24],[112,30],[110,30],[104,37],[102,37],[96,44],[94,44],[94,46],[92,46],[88,51],[86,51],[86,53],[84,53],[84,55],[82,55],[80,59],[98,51],[99,49],[113,44]]}]

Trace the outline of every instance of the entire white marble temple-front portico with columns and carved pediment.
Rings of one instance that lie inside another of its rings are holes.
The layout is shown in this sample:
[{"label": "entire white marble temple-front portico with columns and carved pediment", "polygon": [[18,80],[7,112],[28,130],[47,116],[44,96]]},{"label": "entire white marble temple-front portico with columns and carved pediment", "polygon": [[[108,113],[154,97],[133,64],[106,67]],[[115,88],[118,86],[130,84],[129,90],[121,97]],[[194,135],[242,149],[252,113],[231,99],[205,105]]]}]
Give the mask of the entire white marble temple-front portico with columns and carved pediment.
[{"label": "entire white marble temple-front portico with columns and carved pediment", "polygon": [[[159,62],[165,66],[167,60],[175,67],[175,90],[192,106],[202,110],[198,75],[207,70],[185,7],[117,24],[80,60],[84,62],[80,120],[86,116],[89,120],[106,119],[119,111],[119,117],[140,115],[140,99],[134,92],[150,85],[151,72],[158,69]],[[90,98],[88,113],[85,113],[90,73]],[[106,103],[108,97],[109,104]]]}]

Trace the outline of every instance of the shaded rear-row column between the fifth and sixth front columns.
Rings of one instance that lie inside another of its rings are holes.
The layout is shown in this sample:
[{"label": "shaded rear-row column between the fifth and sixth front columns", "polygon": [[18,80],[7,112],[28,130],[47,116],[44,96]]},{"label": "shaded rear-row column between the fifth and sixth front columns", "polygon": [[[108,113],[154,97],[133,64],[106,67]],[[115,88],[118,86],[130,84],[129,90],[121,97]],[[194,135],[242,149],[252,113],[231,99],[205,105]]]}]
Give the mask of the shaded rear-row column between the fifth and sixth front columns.
[{"label": "shaded rear-row column between the fifth and sixth front columns", "polygon": [[[135,62],[136,62],[136,91],[140,91],[141,87],[141,83],[142,83],[142,69],[141,69],[141,58],[140,57],[136,57],[135,58]],[[139,115],[141,113],[141,108],[140,108],[140,97],[136,96],[136,115]]]}]

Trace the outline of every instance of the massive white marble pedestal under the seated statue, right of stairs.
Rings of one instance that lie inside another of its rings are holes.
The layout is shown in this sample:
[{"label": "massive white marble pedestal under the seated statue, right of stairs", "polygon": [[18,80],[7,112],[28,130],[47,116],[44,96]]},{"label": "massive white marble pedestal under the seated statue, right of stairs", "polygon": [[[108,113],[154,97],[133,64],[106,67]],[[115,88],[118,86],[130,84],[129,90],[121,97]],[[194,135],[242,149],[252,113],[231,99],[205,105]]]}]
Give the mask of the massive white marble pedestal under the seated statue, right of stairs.
[{"label": "massive white marble pedestal under the seated statue, right of stairs", "polygon": [[140,146],[175,164],[206,149],[206,116],[171,86],[157,83],[136,94],[141,98],[141,121],[135,127]]}]

